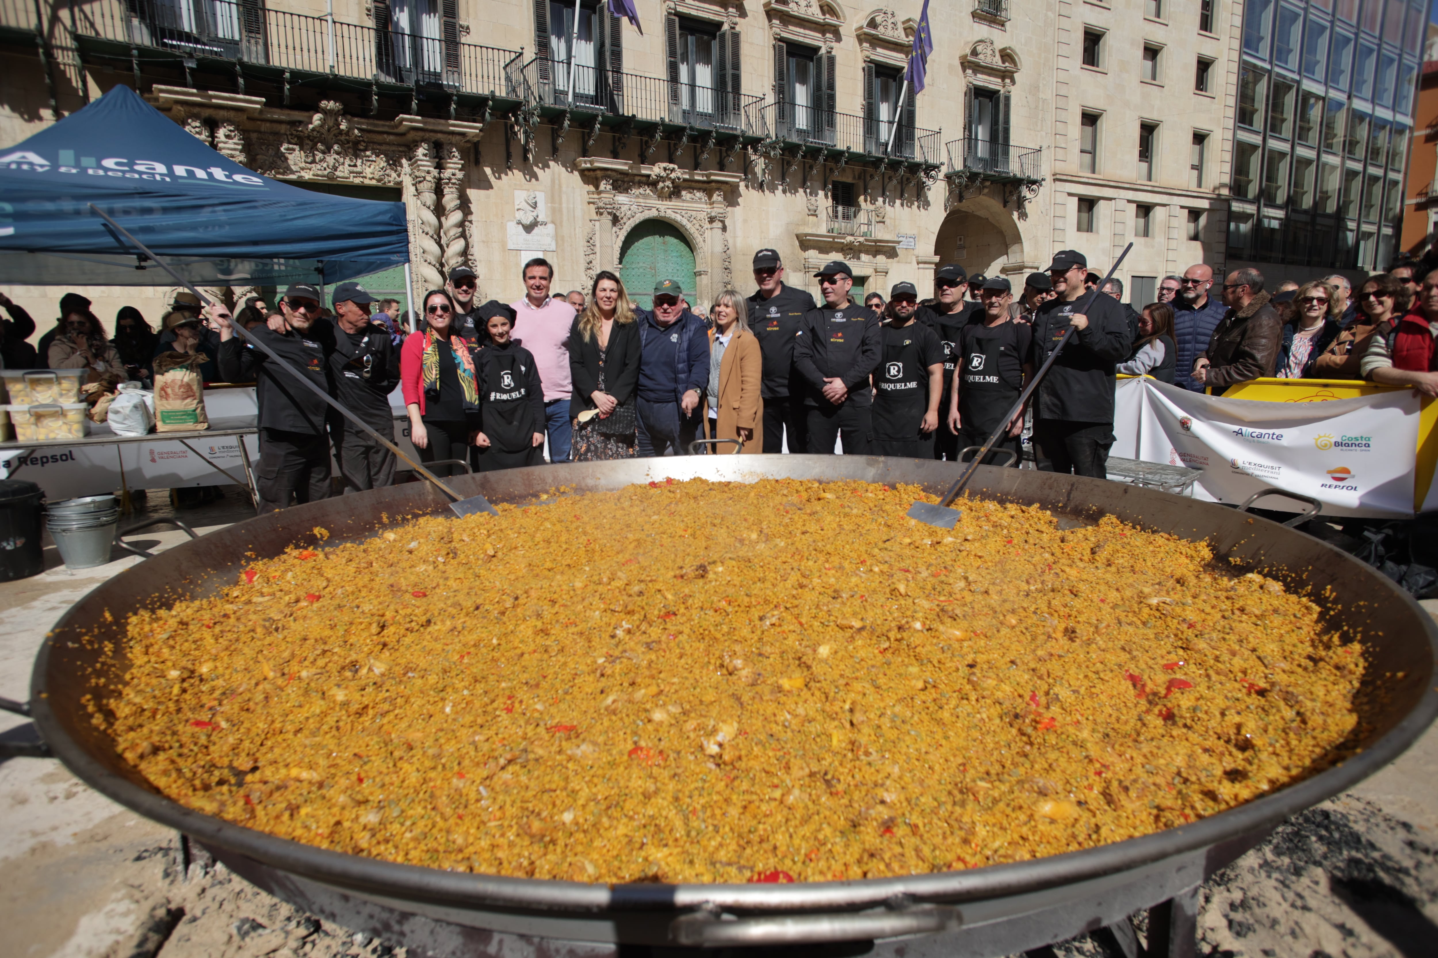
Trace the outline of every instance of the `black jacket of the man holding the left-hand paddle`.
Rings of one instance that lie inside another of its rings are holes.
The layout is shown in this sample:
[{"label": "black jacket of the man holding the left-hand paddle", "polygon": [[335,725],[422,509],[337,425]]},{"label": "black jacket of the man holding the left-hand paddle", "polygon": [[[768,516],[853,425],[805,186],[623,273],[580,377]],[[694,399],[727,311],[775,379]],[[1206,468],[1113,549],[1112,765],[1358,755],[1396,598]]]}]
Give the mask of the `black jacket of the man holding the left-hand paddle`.
[{"label": "black jacket of the man holding the left-hand paddle", "polygon": [[[306,379],[334,395],[329,381],[329,358],[335,349],[334,326],[316,322],[303,338],[296,332],[276,333],[266,326],[256,326],[250,336],[267,343]],[[262,429],[325,434],[329,405],[299,385],[295,373],[276,369],[269,356],[246,345],[239,335],[221,342],[219,352],[220,375],[227,382],[257,383]]]}]

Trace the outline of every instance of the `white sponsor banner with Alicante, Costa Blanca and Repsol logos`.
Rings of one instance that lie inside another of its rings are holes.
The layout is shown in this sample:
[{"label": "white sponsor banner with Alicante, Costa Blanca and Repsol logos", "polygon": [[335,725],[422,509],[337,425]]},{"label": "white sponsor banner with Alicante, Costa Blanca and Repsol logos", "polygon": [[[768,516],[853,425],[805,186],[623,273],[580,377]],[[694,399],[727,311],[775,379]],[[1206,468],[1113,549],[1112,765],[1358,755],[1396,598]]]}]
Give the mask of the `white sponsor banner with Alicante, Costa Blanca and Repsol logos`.
[{"label": "white sponsor banner with Alicante, Costa Blanca and Repsol logos", "polygon": [[[1137,388],[1135,388],[1137,386]],[[1327,402],[1255,402],[1152,379],[1120,382],[1114,455],[1202,471],[1195,498],[1241,503],[1284,488],[1324,516],[1412,516],[1419,401],[1411,389]],[[1261,508],[1299,511],[1268,497]]]}]

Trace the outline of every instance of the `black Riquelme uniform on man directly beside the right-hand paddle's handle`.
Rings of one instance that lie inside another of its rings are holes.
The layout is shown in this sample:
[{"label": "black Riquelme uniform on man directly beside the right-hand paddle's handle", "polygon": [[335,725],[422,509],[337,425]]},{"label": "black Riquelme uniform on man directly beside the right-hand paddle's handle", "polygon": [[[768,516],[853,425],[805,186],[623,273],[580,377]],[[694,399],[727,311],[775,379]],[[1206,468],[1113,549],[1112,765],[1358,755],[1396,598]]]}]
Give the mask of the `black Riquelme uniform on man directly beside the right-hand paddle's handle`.
[{"label": "black Riquelme uniform on man directly beside the right-hand paddle's handle", "polygon": [[[969,323],[959,336],[959,450],[984,445],[1024,391],[1024,363],[1032,342],[1027,323],[1012,319],[985,326],[982,319]],[[1009,462],[999,450],[1012,450]],[[1021,437],[1002,435],[985,465],[998,461],[1018,465],[1024,454]]]}]

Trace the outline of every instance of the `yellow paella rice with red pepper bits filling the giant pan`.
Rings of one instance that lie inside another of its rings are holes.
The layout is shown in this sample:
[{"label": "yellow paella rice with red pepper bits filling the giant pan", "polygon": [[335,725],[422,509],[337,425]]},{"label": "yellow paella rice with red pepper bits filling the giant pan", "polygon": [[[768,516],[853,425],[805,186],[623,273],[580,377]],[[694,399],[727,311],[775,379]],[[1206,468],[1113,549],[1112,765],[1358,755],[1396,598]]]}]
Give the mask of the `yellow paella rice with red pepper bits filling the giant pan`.
[{"label": "yellow paella rice with red pepper bits filling the giant pan", "polygon": [[966,500],[943,533],[915,498],[654,483],[290,549],[131,616],[95,720],[230,822],[578,882],[1025,860],[1345,757],[1363,654],[1310,599],[1113,517]]}]

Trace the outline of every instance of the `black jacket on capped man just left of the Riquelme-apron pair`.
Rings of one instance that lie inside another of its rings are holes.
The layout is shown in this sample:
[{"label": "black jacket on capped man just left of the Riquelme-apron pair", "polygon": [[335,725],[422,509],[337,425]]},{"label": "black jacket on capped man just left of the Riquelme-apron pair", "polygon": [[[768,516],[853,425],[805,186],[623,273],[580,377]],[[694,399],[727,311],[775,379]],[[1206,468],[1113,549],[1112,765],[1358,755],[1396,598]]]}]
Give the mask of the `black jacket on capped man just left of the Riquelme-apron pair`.
[{"label": "black jacket on capped man just left of the Riquelme-apron pair", "polygon": [[838,376],[856,406],[873,402],[869,375],[883,358],[883,330],[879,317],[861,303],[844,309],[811,309],[800,323],[794,345],[794,368],[808,386],[804,404],[828,406],[824,379]]}]

